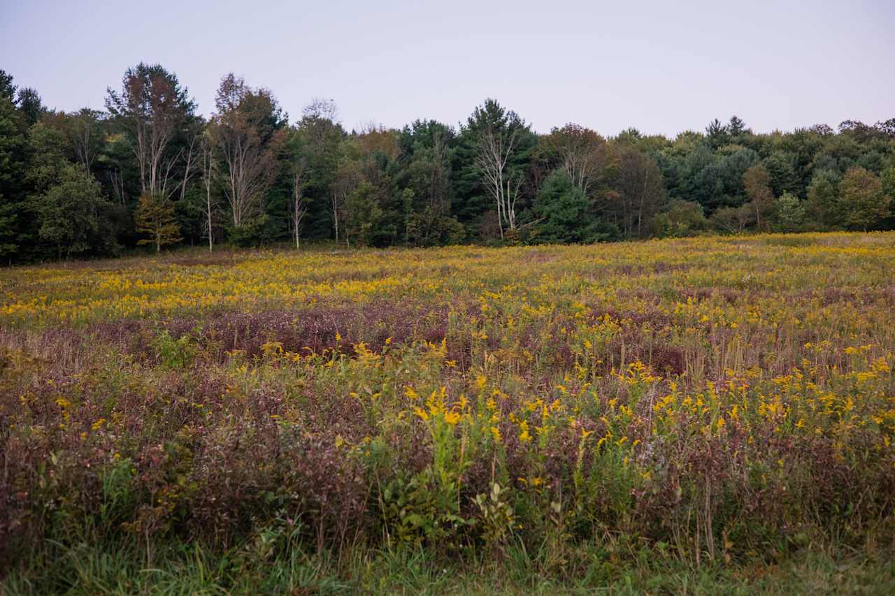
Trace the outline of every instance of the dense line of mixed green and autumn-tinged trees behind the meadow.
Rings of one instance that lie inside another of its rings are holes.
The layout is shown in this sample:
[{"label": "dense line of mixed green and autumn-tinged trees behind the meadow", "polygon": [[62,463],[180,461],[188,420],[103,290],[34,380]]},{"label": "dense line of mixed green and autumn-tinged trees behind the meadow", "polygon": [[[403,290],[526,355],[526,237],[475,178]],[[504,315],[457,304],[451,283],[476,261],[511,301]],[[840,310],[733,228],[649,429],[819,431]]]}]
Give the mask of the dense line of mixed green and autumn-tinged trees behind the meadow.
[{"label": "dense line of mixed green and autumn-tinged trees behind the meadow", "polygon": [[494,99],[464,123],[347,131],[314,99],[227,74],[208,118],[137,64],[106,109],[47,108],[0,71],[0,258],[146,244],[593,243],[895,227],[895,118],[755,133],[733,116],[669,139],[575,123],[538,134]]}]

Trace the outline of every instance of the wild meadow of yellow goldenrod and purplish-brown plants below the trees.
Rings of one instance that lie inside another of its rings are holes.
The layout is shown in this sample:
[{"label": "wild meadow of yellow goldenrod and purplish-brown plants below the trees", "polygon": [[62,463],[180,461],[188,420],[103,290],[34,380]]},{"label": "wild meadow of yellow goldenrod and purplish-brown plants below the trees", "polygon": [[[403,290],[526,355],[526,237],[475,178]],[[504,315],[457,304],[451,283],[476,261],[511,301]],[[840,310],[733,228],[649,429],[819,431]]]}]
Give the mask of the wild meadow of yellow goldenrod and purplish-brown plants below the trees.
[{"label": "wild meadow of yellow goldenrod and purplish-brown plants below the trees", "polygon": [[895,233],[0,270],[0,593],[895,589]]}]

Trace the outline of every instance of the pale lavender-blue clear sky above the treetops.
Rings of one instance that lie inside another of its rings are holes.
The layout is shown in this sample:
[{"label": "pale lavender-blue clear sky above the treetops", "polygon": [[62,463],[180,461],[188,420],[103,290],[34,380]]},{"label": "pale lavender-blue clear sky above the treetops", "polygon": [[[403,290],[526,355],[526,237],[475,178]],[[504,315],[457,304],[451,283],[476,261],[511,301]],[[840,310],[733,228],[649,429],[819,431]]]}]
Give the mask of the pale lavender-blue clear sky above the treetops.
[{"label": "pale lavender-blue clear sky above the treetops", "polygon": [[456,125],[485,98],[538,132],[574,122],[673,136],[895,117],[895,0],[0,0],[0,69],[47,106],[102,108],[140,62],[214,110],[227,72],[297,120]]}]

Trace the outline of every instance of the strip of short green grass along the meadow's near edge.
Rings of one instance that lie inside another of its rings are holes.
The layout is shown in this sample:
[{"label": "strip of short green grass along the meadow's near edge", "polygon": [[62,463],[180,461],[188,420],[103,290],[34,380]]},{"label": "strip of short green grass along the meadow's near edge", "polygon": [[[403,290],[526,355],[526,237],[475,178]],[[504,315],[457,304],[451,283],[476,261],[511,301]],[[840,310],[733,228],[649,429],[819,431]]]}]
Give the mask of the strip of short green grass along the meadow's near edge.
[{"label": "strip of short green grass along the meadow's near edge", "polygon": [[34,566],[12,571],[0,593],[13,594],[890,594],[895,592],[891,551],[827,552],[807,549],[776,563],[743,566],[720,562],[687,566],[661,552],[624,557],[605,549],[566,553],[564,565],[547,570],[524,549],[500,560],[445,561],[422,550],[349,550],[342,558],[306,556],[298,550],[252,558],[246,549],[213,553],[172,544],[147,566],[134,548],[81,544],[47,545]]}]

